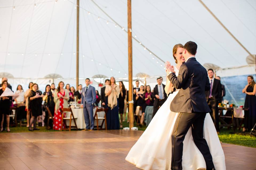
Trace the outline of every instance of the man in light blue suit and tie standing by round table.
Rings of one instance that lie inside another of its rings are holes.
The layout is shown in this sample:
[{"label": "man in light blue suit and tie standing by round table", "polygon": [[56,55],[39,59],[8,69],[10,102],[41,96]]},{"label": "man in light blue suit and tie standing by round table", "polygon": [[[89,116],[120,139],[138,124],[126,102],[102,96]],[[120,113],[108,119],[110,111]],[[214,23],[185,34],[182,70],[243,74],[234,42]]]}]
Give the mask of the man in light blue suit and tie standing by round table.
[{"label": "man in light blue suit and tie standing by round table", "polygon": [[83,114],[85,116],[85,130],[93,130],[94,118],[93,118],[93,106],[96,102],[96,91],[93,86],[90,86],[90,79],[85,79],[86,87],[82,88],[81,103],[83,104]]}]

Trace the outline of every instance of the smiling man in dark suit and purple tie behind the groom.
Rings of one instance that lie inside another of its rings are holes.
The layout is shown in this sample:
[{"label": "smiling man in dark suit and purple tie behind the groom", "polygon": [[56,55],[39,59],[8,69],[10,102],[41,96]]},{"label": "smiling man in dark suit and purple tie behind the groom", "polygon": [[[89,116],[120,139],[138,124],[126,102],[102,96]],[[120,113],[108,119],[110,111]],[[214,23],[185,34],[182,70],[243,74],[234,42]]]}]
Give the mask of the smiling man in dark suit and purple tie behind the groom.
[{"label": "smiling man in dark suit and purple tie behind the groom", "polygon": [[205,92],[206,101],[211,109],[211,115],[213,118],[214,126],[219,132],[219,111],[218,104],[221,102],[222,89],[221,89],[221,81],[214,78],[213,69],[208,70],[209,82],[210,82],[210,90]]}]

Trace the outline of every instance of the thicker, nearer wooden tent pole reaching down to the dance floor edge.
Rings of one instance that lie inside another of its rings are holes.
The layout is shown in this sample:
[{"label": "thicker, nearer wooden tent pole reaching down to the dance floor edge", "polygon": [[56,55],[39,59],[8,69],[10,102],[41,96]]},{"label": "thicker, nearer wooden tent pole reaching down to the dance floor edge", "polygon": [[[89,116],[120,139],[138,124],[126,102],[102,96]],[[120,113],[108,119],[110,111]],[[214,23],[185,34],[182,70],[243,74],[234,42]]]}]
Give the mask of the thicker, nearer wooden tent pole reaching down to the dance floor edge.
[{"label": "thicker, nearer wooden tent pole reaching down to the dance floor edge", "polygon": [[129,77],[129,128],[133,128],[133,46],[131,29],[131,0],[127,0],[127,16],[128,16],[128,77]]}]

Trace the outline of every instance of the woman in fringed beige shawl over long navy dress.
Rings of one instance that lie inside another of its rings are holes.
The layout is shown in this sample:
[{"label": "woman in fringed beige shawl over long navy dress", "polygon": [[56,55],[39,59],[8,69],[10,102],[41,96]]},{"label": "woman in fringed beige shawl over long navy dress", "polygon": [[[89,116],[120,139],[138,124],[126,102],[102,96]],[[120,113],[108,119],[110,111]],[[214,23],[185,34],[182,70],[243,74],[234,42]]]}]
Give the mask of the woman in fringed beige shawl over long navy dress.
[{"label": "woman in fringed beige shawl over long navy dress", "polygon": [[105,95],[107,96],[108,111],[106,114],[107,129],[119,129],[118,97],[120,88],[115,84],[115,78],[110,78],[110,85],[106,85]]}]

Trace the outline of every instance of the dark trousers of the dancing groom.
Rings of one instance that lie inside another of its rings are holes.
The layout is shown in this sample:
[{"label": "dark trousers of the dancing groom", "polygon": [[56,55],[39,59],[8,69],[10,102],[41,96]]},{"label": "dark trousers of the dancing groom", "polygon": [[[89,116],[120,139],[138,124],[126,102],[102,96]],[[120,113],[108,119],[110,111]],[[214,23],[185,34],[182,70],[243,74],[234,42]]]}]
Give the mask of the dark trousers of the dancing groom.
[{"label": "dark trousers of the dancing groom", "polygon": [[[191,127],[195,145],[202,153],[205,159],[206,169],[214,168],[213,158],[211,156],[206,140],[203,138],[203,124],[206,113],[179,113],[171,135],[172,153],[171,169],[182,169],[183,141],[187,131]],[[200,167],[201,168],[201,167]],[[203,167],[202,167],[203,168]]]}]

